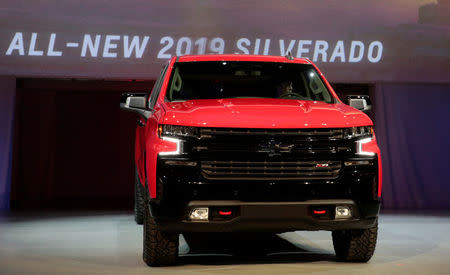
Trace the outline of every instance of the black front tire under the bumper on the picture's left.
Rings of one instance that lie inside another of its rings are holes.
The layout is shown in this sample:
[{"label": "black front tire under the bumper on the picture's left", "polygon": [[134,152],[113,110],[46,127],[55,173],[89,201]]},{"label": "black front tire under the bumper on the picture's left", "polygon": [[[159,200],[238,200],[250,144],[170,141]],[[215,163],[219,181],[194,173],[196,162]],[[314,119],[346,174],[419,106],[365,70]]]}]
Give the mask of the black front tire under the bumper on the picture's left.
[{"label": "black front tire under the bumper on the picture's left", "polygon": [[165,266],[176,263],[179,234],[158,229],[148,208],[144,217],[144,262],[149,266]]}]

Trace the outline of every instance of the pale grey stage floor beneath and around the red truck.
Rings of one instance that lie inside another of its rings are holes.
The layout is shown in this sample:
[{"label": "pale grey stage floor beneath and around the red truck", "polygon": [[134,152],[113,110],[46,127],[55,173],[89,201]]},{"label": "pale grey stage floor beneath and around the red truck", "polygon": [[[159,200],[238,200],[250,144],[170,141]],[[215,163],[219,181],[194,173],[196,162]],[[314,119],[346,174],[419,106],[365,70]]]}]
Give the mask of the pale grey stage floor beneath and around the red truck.
[{"label": "pale grey stage floor beneath and around the red truck", "polygon": [[0,274],[450,274],[450,217],[382,215],[367,264],[336,262],[325,231],[229,236],[191,249],[180,238],[180,254],[177,266],[147,267],[142,226],[131,213],[16,214],[0,221]]}]

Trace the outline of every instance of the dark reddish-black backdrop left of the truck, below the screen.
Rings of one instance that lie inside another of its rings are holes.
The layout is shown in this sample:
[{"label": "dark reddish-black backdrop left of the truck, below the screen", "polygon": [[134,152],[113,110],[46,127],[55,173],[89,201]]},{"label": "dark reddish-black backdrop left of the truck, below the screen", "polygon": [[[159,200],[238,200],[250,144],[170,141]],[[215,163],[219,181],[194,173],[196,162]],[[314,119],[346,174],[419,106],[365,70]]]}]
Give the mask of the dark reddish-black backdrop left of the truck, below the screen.
[{"label": "dark reddish-black backdrop left of the truck, below the screen", "polygon": [[13,208],[130,208],[136,115],[122,92],[153,82],[23,80],[17,87]]}]

